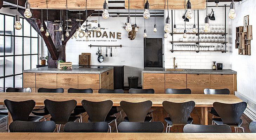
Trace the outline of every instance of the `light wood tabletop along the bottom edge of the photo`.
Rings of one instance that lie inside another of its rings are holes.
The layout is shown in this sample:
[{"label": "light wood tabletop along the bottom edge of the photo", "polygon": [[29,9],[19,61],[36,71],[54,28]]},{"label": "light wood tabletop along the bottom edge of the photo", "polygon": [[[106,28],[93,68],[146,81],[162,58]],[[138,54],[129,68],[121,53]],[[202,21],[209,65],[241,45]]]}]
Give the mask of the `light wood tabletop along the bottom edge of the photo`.
[{"label": "light wood tabletop along the bottom edge of the photo", "polygon": [[256,139],[256,133],[0,133],[2,140],[8,139],[87,139],[87,140],[237,140]]}]

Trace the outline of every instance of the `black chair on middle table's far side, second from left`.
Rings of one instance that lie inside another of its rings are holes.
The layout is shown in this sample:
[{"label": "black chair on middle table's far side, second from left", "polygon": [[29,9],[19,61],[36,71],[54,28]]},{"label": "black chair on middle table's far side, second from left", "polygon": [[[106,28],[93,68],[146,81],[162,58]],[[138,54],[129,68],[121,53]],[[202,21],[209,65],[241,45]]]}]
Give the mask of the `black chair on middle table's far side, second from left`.
[{"label": "black chair on middle table's far side, second from left", "polygon": [[[37,90],[38,93],[64,93],[64,89],[63,88],[39,88]],[[38,116],[46,116],[49,113],[49,111],[47,110],[46,107],[44,107],[43,109],[33,109],[32,113],[34,115],[38,115]]]}]

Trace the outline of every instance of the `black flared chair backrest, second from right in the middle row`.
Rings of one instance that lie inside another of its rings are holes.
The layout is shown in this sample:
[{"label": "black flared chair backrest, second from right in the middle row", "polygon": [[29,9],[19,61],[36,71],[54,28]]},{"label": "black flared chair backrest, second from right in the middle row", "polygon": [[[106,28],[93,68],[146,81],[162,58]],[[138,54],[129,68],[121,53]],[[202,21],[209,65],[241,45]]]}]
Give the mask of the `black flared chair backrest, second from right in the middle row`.
[{"label": "black flared chair backrest, second from right in the middle row", "polygon": [[194,101],[184,103],[173,103],[164,101],[163,107],[171,118],[172,125],[186,125],[189,115],[195,107]]}]

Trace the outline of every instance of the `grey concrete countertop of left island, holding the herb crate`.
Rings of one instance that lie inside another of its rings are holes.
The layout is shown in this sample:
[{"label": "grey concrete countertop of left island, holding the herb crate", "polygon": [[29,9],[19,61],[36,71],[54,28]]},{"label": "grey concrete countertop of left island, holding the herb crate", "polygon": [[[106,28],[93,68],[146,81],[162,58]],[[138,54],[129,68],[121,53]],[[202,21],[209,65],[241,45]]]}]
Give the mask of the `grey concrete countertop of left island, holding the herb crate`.
[{"label": "grey concrete countertop of left island, holding the herb crate", "polygon": [[58,68],[48,68],[40,67],[33,69],[23,70],[24,73],[83,73],[83,74],[101,74],[106,71],[113,69],[113,67],[106,66],[72,66],[72,69],[58,69]]}]

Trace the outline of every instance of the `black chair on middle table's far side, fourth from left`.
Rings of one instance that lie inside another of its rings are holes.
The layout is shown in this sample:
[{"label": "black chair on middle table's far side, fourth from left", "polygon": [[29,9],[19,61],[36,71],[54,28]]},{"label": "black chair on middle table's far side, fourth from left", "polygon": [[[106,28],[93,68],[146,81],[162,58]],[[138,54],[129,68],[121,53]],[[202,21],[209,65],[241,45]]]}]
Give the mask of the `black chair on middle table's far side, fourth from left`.
[{"label": "black chair on middle table's far side, fourth from left", "polygon": [[[124,93],[124,90],[123,89],[104,89],[104,88],[101,88],[98,90],[98,93]],[[121,111],[117,111],[117,106],[112,106],[112,108],[110,109],[109,113],[107,113],[107,116],[112,116],[114,115],[115,117],[116,116],[116,113],[120,112],[120,116],[121,116],[121,120],[123,121],[123,118],[122,118],[122,113]]]}]

